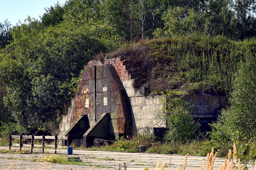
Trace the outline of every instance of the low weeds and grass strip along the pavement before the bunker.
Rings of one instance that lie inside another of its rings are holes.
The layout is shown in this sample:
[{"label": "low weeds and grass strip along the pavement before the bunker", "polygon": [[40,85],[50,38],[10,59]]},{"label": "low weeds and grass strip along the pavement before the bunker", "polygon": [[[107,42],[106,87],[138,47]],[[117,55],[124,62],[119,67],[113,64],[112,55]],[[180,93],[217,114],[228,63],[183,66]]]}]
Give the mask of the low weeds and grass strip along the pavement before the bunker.
[{"label": "low weeds and grass strip along the pavement before the bunker", "polygon": [[[100,150],[100,151],[122,151],[122,152],[139,152],[139,145],[146,146],[146,153],[161,153],[161,154],[181,154],[206,156],[207,152],[211,150],[209,140],[186,140],[186,141],[173,141],[173,142],[157,142],[155,139],[148,139],[144,141],[138,141],[138,139],[126,140],[122,139],[115,142],[112,145],[106,145],[102,147],[91,147],[88,150]],[[90,158],[90,157],[88,157]],[[92,158],[98,159],[98,158]],[[106,160],[106,159],[105,159]],[[135,160],[131,160],[134,162]]]}]

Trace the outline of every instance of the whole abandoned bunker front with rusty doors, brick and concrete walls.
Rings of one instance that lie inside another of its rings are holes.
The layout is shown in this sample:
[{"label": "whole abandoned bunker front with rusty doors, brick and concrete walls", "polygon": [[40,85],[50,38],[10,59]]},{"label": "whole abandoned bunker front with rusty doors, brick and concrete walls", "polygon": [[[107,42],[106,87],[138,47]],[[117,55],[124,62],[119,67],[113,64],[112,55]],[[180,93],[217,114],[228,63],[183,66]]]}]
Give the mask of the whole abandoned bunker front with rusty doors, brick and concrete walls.
[{"label": "whole abandoned bunker front with rusty doors, brick and concrete walls", "polygon": [[[72,144],[87,147],[95,138],[114,140],[126,137],[127,127],[149,128],[163,136],[166,124],[156,123],[164,95],[147,96],[144,87],[135,88],[136,79],[129,72],[125,57],[90,61],[85,67],[79,92],[71,100],[68,115],[60,123],[59,135],[69,135]],[[185,95],[193,105],[192,116],[203,131],[215,121],[227,103],[226,96]],[[160,130],[160,131],[159,131]],[[62,141],[62,145],[64,145]]]}]

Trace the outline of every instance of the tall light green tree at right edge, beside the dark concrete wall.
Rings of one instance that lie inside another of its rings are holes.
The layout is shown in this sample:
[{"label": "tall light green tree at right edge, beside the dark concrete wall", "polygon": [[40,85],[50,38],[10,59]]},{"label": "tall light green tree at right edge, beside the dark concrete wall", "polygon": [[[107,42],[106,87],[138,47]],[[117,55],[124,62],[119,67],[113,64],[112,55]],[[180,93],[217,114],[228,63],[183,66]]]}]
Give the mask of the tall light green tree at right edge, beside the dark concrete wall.
[{"label": "tall light green tree at right edge, beside the dark concrete wall", "polygon": [[256,62],[248,56],[241,63],[233,84],[230,107],[222,111],[216,123],[212,124],[212,142],[217,149],[232,145],[235,141],[248,141],[256,138]]}]

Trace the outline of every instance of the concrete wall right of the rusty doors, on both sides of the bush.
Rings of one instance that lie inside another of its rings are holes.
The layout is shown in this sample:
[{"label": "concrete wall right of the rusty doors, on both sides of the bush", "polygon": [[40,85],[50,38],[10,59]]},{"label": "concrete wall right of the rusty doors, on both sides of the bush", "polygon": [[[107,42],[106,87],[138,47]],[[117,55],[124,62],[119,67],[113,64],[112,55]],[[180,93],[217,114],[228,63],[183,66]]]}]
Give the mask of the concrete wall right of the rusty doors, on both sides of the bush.
[{"label": "concrete wall right of the rusty doors, on both sides of the bush", "polygon": [[[153,132],[153,128],[165,127],[164,124],[156,125],[156,113],[162,106],[160,100],[163,95],[144,96],[143,87],[134,88],[132,84],[135,79],[123,80],[122,83],[129,97],[129,104],[132,113],[132,126],[138,128],[149,127]],[[193,105],[191,111],[194,118],[201,123],[202,130],[210,130],[209,123],[215,121],[220,114],[222,108],[227,103],[226,96],[194,96],[185,95],[184,99]]]}]

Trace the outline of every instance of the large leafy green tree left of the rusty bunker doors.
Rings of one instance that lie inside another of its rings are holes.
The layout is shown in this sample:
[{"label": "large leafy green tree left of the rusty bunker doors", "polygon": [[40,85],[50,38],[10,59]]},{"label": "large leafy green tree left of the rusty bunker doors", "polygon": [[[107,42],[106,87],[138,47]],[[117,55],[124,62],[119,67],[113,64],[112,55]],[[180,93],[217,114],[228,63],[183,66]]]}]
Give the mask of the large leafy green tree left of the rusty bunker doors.
[{"label": "large leafy green tree left of the rusty bunker doors", "polygon": [[73,20],[45,27],[28,18],[12,29],[12,51],[0,64],[0,80],[8,112],[28,132],[65,114],[74,92],[72,79],[92,56],[119,43],[111,26],[92,18]]}]

